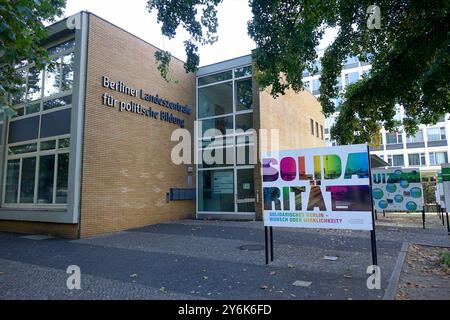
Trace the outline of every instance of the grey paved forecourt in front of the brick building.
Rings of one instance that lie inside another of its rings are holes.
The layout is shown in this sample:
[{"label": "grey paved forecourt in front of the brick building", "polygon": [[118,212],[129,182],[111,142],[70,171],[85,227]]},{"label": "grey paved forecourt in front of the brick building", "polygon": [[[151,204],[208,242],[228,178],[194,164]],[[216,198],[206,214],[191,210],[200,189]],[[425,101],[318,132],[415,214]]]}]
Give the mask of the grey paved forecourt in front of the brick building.
[{"label": "grey paved forecourt in front of the brick building", "polygon": [[[426,230],[420,219],[379,217],[382,290],[366,287],[369,232],[274,229],[269,266],[261,222],[184,220],[77,241],[0,233],[0,299],[382,299],[403,241],[450,245],[436,215]],[[66,287],[69,265],[81,290]]]}]

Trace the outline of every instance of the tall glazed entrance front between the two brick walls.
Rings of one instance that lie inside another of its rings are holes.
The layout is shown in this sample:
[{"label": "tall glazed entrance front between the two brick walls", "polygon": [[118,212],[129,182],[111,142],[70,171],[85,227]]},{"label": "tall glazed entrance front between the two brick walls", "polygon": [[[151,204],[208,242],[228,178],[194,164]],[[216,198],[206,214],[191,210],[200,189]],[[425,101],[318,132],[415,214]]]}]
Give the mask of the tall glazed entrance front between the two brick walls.
[{"label": "tall glazed entrance front between the two brick walls", "polygon": [[198,212],[254,213],[252,68],[197,79]]}]

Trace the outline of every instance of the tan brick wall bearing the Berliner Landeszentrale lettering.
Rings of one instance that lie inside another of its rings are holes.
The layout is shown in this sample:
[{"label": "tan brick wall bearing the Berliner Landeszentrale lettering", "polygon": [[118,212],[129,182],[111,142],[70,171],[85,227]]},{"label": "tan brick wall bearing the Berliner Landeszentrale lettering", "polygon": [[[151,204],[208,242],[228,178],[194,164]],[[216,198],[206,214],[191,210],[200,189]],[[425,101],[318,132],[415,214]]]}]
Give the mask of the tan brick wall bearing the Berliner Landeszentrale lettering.
[{"label": "tan brick wall bearing the Berliner Landeszentrale lettering", "polygon": [[[195,217],[194,201],[166,203],[170,188],[187,188],[187,167],[171,161],[175,124],[102,105],[103,93],[134,101],[154,111],[170,111],[137,97],[102,87],[102,76],[159,97],[188,104],[180,112],[186,128],[195,119],[195,76],[183,63],[171,62],[167,83],[156,69],[156,48],[108,22],[90,15],[87,93],[81,190],[81,237],[115,232],[170,220]],[[195,173],[193,186],[195,187]]]}]

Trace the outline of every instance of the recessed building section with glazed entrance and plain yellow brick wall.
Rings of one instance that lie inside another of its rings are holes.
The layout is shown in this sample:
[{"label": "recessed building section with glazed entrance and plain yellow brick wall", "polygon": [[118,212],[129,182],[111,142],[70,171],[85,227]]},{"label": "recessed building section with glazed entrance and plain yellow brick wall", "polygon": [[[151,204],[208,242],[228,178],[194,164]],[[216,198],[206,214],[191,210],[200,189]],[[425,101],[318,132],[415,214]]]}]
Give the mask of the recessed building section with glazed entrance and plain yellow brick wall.
[{"label": "recessed building section with glazed entrance and plain yellow brick wall", "polygon": [[[199,162],[198,218],[262,218],[258,154],[325,144],[322,109],[310,93],[287,91],[274,99],[252,74],[250,55],[197,72],[197,152],[200,158],[215,148],[223,156],[222,164]],[[211,141],[217,139],[219,147]]]}]

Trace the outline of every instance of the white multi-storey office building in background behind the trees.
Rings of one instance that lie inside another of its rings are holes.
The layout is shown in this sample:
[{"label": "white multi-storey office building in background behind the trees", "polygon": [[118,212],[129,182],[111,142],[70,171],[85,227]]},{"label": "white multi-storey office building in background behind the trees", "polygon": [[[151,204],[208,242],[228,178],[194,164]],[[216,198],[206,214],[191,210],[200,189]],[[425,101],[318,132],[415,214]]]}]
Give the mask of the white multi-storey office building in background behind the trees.
[{"label": "white multi-storey office building in background behind the trees", "polygon": [[[319,59],[324,51],[318,52]],[[316,66],[321,69],[320,60]],[[342,74],[338,78],[339,92],[342,93],[345,88],[357,82],[364,74],[370,72],[371,65],[359,61],[357,57],[350,57],[343,66]],[[320,74],[310,74],[304,72],[303,83],[305,88],[315,97],[320,96]],[[339,108],[340,98],[335,100]],[[329,146],[336,145],[336,141],[331,139],[331,127],[336,121],[339,113],[325,119],[325,141]],[[404,109],[397,106],[396,120],[401,121],[404,117]],[[379,156],[384,161],[396,167],[414,167],[420,168],[424,179],[429,180],[437,171],[440,170],[442,163],[448,162],[448,153],[450,151],[449,135],[450,121],[448,116],[439,120],[436,125],[421,125],[419,131],[413,137],[408,136],[400,127],[398,132],[387,132],[384,128],[381,131],[381,145],[378,148],[371,148],[371,153]]]}]

